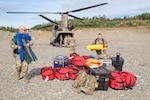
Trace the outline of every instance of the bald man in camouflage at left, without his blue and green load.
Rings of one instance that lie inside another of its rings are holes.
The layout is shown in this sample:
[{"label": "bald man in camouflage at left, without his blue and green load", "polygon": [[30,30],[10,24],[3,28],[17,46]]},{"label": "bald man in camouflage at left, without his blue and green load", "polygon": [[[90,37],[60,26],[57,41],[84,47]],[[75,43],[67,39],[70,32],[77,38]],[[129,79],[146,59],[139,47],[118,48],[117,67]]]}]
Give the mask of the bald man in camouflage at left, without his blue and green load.
[{"label": "bald man in camouflage at left, without his blue and green load", "polygon": [[[18,34],[25,34],[26,28],[25,26],[19,27]],[[27,33],[26,33],[27,34]],[[21,72],[24,75],[24,82],[29,83],[28,80],[28,62],[26,60],[21,60],[19,55],[19,50],[22,48],[21,46],[17,45],[18,41],[16,39],[16,36],[14,36],[10,41],[10,46],[13,49],[13,56],[15,58],[15,65],[16,65],[16,78],[17,80],[20,80],[20,74]],[[33,41],[30,40],[26,44],[27,47],[30,47],[33,45]]]}]

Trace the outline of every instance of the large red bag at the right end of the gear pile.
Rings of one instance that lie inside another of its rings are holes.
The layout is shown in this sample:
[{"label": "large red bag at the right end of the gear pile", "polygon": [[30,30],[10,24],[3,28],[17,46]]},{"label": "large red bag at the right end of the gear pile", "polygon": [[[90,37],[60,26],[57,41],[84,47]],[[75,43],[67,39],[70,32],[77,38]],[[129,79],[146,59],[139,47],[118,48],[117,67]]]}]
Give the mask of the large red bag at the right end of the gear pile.
[{"label": "large red bag at the right end of the gear pile", "polygon": [[111,72],[109,87],[116,90],[132,89],[136,80],[136,77],[129,72],[114,71]]}]

